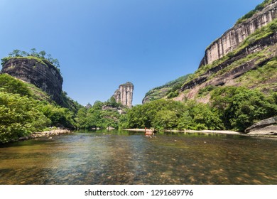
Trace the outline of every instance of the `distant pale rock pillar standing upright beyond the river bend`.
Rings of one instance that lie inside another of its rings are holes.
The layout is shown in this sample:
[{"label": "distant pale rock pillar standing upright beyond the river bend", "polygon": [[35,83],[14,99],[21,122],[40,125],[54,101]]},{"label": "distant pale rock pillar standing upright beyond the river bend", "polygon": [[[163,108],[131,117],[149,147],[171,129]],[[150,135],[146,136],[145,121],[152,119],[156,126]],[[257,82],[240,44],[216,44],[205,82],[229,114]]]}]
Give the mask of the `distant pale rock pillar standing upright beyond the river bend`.
[{"label": "distant pale rock pillar standing upright beyond the river bend", "polygon": [[134,85],[131,82],[120,85],[119,89],[114,92],[114,98],[116,102],[120,102],[122,105],[131,108],[133,103],[133,91]]}]

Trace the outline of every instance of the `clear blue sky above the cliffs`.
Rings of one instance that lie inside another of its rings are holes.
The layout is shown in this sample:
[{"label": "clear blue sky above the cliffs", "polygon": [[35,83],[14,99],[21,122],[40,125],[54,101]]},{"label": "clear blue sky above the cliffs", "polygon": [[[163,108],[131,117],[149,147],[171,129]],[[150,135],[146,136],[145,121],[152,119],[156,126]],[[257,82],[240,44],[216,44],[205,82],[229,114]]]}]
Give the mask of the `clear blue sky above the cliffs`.
[{"label": "clear blue sky above the cliffs", "polygon": [[207,45],[263,0],[0,0],[0,58],[45,50],[80,104],[134,83],[148,90],[192,73]]}]

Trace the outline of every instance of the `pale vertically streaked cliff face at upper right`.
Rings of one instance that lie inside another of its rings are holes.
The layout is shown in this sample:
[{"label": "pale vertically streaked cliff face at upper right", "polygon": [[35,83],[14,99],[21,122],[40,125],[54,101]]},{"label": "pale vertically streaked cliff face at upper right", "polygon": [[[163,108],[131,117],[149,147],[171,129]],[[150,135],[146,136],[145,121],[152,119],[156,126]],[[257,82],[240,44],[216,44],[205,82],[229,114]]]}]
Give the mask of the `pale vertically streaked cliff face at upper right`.
[{"label": "pale vertically streaked cliff face at upper right", "polygon": [[202,58],[200,67],[212,63],[214,60],[222,58],[224,55],[232,52],[237,46],[245,40],[247,36],[254,33],[262,26],[277,17],[277,0],[271,1],[262,11],[254,14],[246,21],[235,25],[225,32],[220,38],[214,41],[206,50]]}]

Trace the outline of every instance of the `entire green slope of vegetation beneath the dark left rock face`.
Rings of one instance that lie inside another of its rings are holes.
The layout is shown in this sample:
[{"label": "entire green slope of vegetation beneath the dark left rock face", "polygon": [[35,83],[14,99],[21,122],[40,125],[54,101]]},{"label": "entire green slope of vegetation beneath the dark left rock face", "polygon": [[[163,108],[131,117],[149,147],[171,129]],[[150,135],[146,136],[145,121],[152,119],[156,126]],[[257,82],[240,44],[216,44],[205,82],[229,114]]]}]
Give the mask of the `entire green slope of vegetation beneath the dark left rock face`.
[{"label": "entire green slope of vegetation beneath the dark left rock face", "polygon": [[[0,143],[49,127],[77,127],[75,112],[41,99],[31,84],[0,75]],[[46,94],[44,94],[46,96]]]}]

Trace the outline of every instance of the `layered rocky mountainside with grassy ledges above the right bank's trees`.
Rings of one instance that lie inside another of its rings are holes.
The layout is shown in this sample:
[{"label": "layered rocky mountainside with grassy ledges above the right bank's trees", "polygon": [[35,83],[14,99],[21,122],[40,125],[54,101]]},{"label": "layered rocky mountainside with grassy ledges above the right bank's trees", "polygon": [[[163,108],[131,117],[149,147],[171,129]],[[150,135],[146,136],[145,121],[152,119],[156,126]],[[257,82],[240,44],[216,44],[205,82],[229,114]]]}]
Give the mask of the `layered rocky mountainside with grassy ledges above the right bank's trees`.
[{"label": "layered rocky mountainside with grassy ledges above the right bank's trees", "polygon": [[[182,86],[173,99],[209,102],[210,92],[219,86],[258,88],[264,93],[276,91],[276,16],[277,0],[266,0],[241,17],[206,48],[198,70],[181,81]],[[146,94],[143,102],[149,101],[146,99],[153,91]],[[166,97],[155,96],[154,99]]]}]

